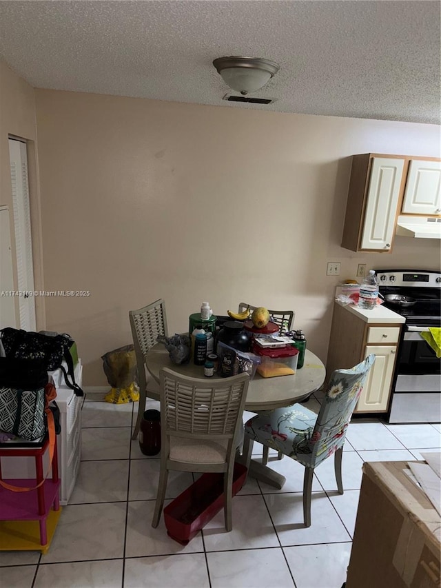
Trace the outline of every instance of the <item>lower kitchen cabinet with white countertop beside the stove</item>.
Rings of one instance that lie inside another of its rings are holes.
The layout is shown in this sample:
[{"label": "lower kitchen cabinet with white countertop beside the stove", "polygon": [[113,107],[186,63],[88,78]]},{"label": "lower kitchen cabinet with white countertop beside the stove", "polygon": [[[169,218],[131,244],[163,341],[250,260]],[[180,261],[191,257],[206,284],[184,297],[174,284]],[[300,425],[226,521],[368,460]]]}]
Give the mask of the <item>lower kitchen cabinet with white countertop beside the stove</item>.
[{"label": "lower kitchen cabinet with white countertop beside the stove", "polygon": [[334,304],[328,377],[335,369],[349,369],[371,353],[376,356],[355,414],[387,412],[403,322],[400,315],[380,305],[374,310],[360,310],[353,305]]}]

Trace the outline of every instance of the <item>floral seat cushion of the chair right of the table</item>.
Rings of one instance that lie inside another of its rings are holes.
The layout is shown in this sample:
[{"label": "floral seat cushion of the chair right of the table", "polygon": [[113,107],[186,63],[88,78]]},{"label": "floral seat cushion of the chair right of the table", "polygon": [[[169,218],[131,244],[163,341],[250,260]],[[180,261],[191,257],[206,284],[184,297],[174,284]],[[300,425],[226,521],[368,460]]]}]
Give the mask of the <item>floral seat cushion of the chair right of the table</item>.
[{"label": "floral seat cushion of the chair right of the table", "polygon": [[258,443],[297,458],[307,447],[317,414],[301,404],[261,412],[245,423],[245,435]]}]

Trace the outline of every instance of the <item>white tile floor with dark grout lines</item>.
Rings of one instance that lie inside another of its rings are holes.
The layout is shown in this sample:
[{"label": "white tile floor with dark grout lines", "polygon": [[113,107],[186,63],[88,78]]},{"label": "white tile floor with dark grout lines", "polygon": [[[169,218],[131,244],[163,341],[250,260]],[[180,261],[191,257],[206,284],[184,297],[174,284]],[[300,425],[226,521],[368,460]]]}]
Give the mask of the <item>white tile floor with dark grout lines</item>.
[{"label": "white tile floor with dark grout lines", "polygon": [[[336,491],[334,459],[316,470],[312,525],[302,525],[303,468],[271,460],[287,476],[276,491],[250,479],[233,500],[233,530],[223,513],[186,547],[161,524],[151,526],[158,457],[143,456],[131,427],[138,408],[88,395],[83,405],[82,463],[48,554],[0,551],[0,588],[340,588],[367,460],[413,460],[439,451],[440,425],[353,421],[343,456],[345,494]],[[320,394],[307,404],[317,409]],[[148,408],[158,403],[147,402]],[[255,445],[256,450],[258,445]],[[167,499],[192,474],[172,473]]]}]

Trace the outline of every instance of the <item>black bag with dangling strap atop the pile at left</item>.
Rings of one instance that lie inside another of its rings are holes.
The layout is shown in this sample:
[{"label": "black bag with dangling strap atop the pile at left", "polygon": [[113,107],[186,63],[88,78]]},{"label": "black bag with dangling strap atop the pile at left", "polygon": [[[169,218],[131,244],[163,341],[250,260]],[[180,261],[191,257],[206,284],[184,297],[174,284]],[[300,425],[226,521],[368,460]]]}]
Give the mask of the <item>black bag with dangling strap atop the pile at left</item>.
[{"label": "black bag with dangling strap atop the pile at left", "polygon": [[[46,371],[61,369],[65,383],[74,390],[76,396],[83,396],[83,390],[75,382],[74,362],[70,354],[70,347],[74,343],[69,335],[49,336],[32,331],[24,331],[6,327],[1,330],[1,343],[6,358],[40,359]],[[68,365],[61,365],[65,361]]]}]

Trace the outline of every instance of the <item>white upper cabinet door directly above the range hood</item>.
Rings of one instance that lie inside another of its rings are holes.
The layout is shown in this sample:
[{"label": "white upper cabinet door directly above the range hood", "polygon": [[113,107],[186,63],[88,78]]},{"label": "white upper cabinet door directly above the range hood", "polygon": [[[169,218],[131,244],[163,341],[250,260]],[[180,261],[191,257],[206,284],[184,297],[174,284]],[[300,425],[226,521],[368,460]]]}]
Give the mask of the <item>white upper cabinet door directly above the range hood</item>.
[{"label": "white upper cabinet door directly above the range hood", "polygon": [[409,163],[403,214],[441,214],[441,162],[413,159]]}]

